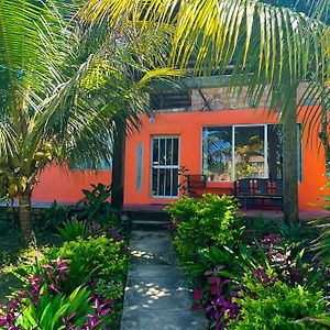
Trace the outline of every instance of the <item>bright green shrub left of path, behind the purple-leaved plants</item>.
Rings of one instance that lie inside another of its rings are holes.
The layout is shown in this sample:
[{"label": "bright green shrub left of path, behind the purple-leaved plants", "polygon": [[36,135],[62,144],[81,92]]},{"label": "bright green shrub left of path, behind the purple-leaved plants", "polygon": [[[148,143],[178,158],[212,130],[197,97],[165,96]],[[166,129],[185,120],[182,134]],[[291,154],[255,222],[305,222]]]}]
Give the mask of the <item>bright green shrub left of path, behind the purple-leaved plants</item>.
[{"label": "bright green shrub left of path, behind the purple-leaved plants", "polygon": [[65,290],[85,285],[91,278],[123,280],[128,257],[123,253],[123,241],[114,242],[106,237],[65,242],[61,248],[46,250],[44,264],[57,257],[68,260],[70,272]]}]

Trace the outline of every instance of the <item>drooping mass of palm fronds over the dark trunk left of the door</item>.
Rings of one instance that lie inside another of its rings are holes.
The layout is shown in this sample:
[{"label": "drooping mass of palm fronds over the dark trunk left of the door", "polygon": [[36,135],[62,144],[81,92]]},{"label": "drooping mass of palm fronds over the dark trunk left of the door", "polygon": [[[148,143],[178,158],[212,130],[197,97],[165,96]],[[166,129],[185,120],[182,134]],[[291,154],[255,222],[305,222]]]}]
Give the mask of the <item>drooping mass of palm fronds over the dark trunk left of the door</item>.
[{"label": "drooping mass of palm fronds over the dark trunk left of the door", "polygon": [[150,110],[151,85],[184,74],[158,67],[165,53],[140,56],[140,47],[154,48],[148,47],[155,43],[153,34],[136,40],[129,29],[121,34],[103,28],[101,33],[107,35],[89,46],[98,28],[86,28],[76,40],[77,53],[68,58],[70,69],[38,107],[33,131],[25,140],[26,152],[42,138],[53,136],[75,164],[84,164],[88,155],[90,163],[99,165],[112,155],[118,123],[127,123],[128,134],[140,130],[140,114]]}]

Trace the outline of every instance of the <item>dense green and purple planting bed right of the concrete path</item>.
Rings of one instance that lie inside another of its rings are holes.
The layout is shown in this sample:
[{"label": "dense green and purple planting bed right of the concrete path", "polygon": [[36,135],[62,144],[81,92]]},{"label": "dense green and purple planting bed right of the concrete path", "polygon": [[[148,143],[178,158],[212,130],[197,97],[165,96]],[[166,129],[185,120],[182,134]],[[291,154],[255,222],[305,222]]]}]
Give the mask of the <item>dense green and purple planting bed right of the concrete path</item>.
[{"label": "dense green and purple planting bed right of the concrete path", "polygon": [[[237,205],[226,196],[184,197],[167,211],[182,267],[195,287],[193,309],[205,309],[211,329],[329,326],[328,254],[317,257],[312,228],[260,218],[246,222],[242,234]],[[317,249],[329,252],[321,238]]]}]

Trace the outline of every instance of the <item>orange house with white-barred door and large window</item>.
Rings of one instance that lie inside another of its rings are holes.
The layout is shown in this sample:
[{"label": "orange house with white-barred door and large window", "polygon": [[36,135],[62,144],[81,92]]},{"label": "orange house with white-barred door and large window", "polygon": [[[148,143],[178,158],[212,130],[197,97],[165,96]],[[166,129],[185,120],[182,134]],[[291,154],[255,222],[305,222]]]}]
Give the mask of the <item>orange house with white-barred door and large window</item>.
[{"label": "orange house with white-barred door and large window", "polygon": [[[238,178],[282,178],[280,113],[256,109],[244,95],[229,95],[226,87],[190,88],[180,96],[157,96],[156,101],[154,117],[142,117],[141,132],[127,139],[127,205],[165,205],[177,199],[182,166],[190,174],[206,175],[204,191],[216,194],[230,194]],[[315,109],[304,107],[299,123],[306,111]],[[306,210],[324,195],[320,188],[327,180],[323,150],[299,123],[301,139],[293,143],[298,148],[299,209]],[[317,136],[317,131],[311,135]],[[82,188],[99,182],[109,185],[111,169],[52,166],[41,175],[33,200],[75,202]]]}]

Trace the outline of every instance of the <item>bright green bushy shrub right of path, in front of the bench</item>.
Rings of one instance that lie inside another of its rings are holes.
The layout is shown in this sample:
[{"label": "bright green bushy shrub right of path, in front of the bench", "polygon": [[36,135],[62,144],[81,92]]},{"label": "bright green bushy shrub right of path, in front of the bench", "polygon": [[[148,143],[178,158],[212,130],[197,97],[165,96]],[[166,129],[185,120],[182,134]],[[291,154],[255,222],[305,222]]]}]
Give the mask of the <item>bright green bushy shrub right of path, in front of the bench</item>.
[{"label": "bright green bushy shrub right of path, in front of the bench", "polygon": [[182,261],[195,260],[200,249],[231,246],[239,242],[243,227],[230,196],[207,194],[202,200],[184,197],[166,208],[177,227],[174,244]]}]

